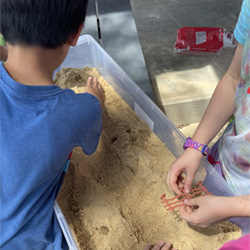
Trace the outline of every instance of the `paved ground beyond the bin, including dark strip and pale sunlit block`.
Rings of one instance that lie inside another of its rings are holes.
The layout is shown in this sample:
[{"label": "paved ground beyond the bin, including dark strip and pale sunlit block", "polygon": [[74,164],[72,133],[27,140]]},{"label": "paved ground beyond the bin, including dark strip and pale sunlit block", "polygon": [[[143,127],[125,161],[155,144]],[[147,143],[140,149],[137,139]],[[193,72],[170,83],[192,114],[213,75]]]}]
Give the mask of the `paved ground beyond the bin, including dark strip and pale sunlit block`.
[{"label": "paved ground beyond the bin, including dark strip and pale sunlit block", "polygon": [[242,0],[89,0],[90,34],[184,133],[192,136],[235,48],[174,54],[182,27],[233,32]]}]

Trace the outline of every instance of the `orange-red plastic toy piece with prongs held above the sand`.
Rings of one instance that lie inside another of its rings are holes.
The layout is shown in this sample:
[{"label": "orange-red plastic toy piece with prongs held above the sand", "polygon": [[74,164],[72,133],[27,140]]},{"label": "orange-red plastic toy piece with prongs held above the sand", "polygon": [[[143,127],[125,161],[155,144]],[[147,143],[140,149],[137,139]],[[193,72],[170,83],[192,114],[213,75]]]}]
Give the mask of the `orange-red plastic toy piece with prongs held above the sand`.
[{"label": "orange-red plastic toy piece with prongs held above the sand", "polygon": [[173,211],[177,207],[184,206],[185,205],[183,203],[184,200],[191,199],[197,194],[201,194],[200,196],[212,194],[212,193],[209,193],[206,187],[201,184],[201,181],[199,181],[196,184],[196,186],[197,187],[193,188],[189,194],[184,191],[184,187],[183,187],[181,189],[181,191],[183,192],[182,194],[178,194],[175,197],[170,198],[170,199],[166,199],[165,198],[166,194],[163,194],[160,197],[162,199],[161,203],[165,204],[164,207],[167,209],[167,211]]}]

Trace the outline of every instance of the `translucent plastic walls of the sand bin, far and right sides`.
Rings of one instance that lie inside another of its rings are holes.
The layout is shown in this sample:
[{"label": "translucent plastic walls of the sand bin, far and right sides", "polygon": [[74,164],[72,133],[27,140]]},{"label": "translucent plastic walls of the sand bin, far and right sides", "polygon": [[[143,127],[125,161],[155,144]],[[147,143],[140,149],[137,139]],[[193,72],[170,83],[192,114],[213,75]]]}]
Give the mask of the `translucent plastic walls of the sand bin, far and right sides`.
[{"label": "translucent plastic walls of the sand bin, far and right sides", "polygon": [[[185,136],[138,85],[128,77],[93,37],[90,35],[81,36],[77,46],[70,48],[64,62],[55,72],[64,67],[95,67],[121,98],[149,125],[151,130],[165,143],[175,157],[180,156],[183,152]],[[214,195],[237,195],[206,160],[202,161],[195,182],[203,179],[204,185]],[[232,221],[241,227],[243,234],[250,232],[250,220],[248,218],[234,218]]]}]

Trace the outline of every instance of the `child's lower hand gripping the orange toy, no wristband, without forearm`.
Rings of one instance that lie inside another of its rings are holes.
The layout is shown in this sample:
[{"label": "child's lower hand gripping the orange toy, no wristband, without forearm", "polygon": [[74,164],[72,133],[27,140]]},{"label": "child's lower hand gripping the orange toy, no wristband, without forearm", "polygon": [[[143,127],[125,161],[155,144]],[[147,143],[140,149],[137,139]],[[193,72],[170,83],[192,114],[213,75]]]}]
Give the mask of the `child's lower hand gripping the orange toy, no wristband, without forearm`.
[{"label": "child's lower hand gripping the orange toy, no wristband, without forearm", "polygon": [[194,226],[205,228],[230,218],[228,197],[205,195],[184,203],[186,205],[179,208],[180,217]]}]

